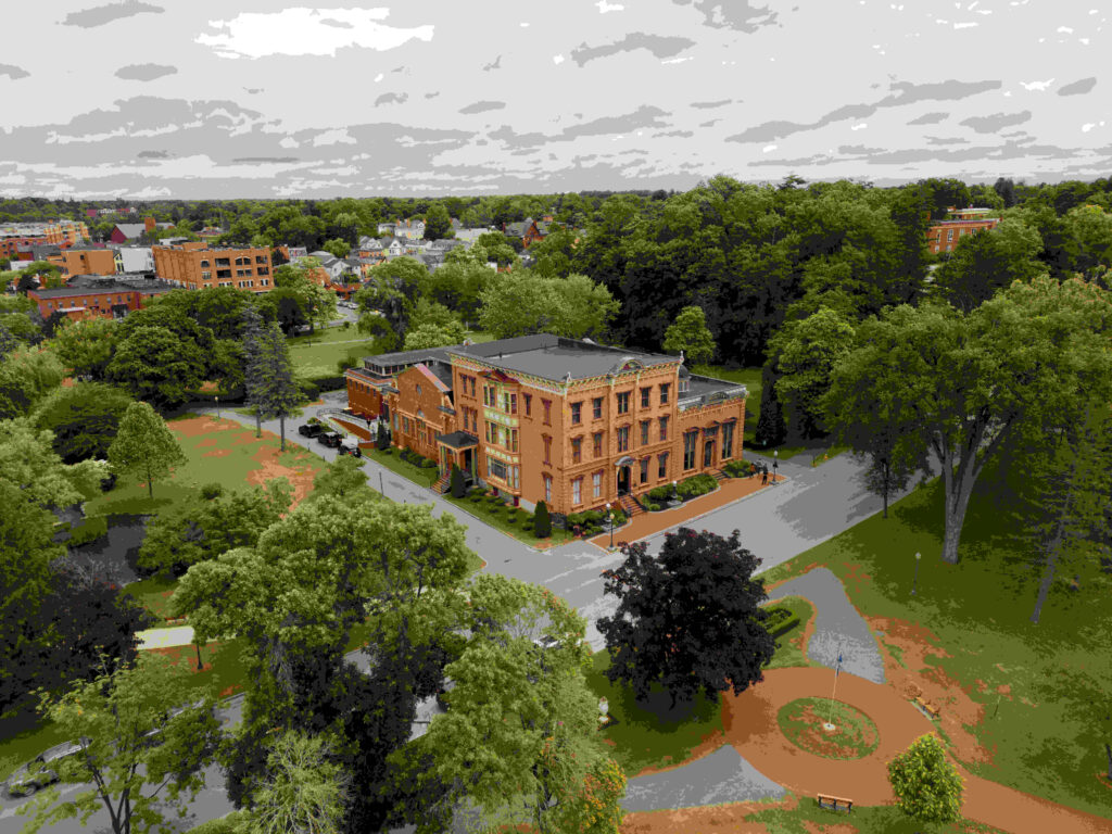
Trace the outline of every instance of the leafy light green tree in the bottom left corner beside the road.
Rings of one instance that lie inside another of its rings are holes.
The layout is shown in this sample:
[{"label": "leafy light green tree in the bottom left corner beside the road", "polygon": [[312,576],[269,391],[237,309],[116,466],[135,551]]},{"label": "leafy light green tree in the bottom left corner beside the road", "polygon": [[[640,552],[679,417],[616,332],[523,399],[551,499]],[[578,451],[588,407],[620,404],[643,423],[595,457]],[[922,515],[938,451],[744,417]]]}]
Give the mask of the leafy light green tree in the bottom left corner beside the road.
[{"label": "leafy light green tree in the bottom left corner beside the road", "polygon": [[101,807],[113,834],[159,830],[166,822],[160,806],[167,803],[183,815],[205,786],[203,768],[220,735],[211,695],[169,717],[182,706],[190,674],[147,654],[96,681],[76,682],[61,696],[44,695],[40,709],[62,737],[89,739],[64,759],[59,775],[92,787],[62,802],[61,791],[50,787],[20,810],[32,815],[24,832],[75,817],[85,825]]}]

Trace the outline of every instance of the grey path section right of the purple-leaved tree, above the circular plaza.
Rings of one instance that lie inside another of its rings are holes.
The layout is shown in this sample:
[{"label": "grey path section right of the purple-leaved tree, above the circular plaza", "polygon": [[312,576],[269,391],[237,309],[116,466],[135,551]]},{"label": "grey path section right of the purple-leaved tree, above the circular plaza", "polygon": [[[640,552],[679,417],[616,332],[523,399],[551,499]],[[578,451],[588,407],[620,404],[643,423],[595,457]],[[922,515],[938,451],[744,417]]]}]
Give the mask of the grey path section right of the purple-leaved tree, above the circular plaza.
[{"label": "grey path section right of the purple-leaved tree, above the circular plaza", "polygon": [[876,638],[830,569],[817,567],[768,594],[770,599],[785,596],[802,596],[815,606],[815,633],[807,644],[807,657],[834,668],[841,648],[843,669],[875,684],[884,683],[884,661]]}]

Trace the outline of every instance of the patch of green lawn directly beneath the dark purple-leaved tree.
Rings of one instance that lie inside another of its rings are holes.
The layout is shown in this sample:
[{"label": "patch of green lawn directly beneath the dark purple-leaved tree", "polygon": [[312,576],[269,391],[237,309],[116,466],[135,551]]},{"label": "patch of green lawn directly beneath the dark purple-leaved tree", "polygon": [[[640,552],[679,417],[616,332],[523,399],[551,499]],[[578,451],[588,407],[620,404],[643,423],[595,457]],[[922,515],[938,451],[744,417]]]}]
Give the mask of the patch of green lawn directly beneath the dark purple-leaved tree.
[{"label": "patch of green lawn directly beneath the dark purple-leaved tree", "polygon": [[[606,679],[609,655],[596,652],[587,672],[587,686],[609,702],[609,715],[617,719],[603,729],[612,755],[626,775],[633,777],[646,767],[668,767],[687,758],[704,741],[722,735],[722,699],[699,697],[687,715],[678,718],[636,703],[633,692]],[[664,707],[668,698],[664,696]],[[677,709],[677,714],[682,711]],[[725,744],[723,736],[722,743]]]}]

